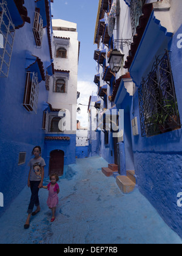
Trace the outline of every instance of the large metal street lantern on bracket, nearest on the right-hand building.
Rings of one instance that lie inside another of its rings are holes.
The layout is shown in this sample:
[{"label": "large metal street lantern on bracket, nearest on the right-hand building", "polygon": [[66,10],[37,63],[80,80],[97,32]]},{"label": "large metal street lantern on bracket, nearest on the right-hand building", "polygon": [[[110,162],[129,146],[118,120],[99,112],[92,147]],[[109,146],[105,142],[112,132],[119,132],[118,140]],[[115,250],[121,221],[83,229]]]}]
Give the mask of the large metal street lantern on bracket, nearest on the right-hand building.
[{"label": "large metal street lantern on bracket, nearest on the right-hand building", "polygon": [[121,66],[123,66],[124,54],[121,54],[117,49],[113,49],[109,57],[109,65],[112,72],[118,73]]}]

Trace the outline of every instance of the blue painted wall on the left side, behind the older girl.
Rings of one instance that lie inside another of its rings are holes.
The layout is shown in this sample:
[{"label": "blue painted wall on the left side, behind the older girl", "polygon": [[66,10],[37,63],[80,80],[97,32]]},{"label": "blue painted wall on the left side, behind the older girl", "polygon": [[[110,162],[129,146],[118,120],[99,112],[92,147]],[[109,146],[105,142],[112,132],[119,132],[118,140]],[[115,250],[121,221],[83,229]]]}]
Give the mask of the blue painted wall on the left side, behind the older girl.
[{"label": "blue painted wall on the left side, behind the older girl", "polygon": [[[47,101],[45,82],[39,84],[38,113],[27,112],[22,106],[25,90],[25,54],[36,55],[44,63],[50,62],[47,29],[44,29],[42,48],[37,49],[33,36],[35,1],[25,0],[31,24],[16,30],[12,60],[8,78],[0,78],[0,191],[4,194],[4,212],[10,202],[27,184],[29,162],[34,146],[41,146],[44,152],[44,132],[42,128],[43,101]],[[47,54],[45,54],[47,52]],[[44,66],[45,69],[45,66]],[[46,71],[46,69],[45,69]],[[26,162],[18,166],[19,152],[26,152]]]}]

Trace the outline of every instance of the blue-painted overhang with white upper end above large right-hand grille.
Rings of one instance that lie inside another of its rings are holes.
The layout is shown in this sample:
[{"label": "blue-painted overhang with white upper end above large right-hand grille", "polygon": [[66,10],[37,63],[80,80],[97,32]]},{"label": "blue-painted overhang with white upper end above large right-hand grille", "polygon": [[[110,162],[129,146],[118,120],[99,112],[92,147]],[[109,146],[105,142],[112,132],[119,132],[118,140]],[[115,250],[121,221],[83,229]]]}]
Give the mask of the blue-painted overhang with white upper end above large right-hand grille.
[{"label": "blue-painted overhang with white upper end above large right-hand grille", "polygon": [[152,6],[152,13],[129,69],[136,86],[140,85],[141,77],[153,58],[157,54],[161,54],[164,49],[168,49],[168,44],[173,36],[169,2],[164,0],[152,4]]}]

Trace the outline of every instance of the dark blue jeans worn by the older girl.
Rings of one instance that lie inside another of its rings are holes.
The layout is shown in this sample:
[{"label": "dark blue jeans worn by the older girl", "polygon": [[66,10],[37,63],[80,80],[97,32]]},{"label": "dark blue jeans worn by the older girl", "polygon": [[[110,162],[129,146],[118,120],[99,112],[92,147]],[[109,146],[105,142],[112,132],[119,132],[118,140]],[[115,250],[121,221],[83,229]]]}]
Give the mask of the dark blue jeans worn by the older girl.
[{"label": "dark blue jeans worn by the older girl", "polygon": [[33,207],[34,205],[36,207],[39,206],[39,196],[38,196],[38,193],[39,193],[39,183],[40,181],[30,181],[30,190],[32,192],[32,196],[30,198],[30,204],[29,204],[29,209],[27,211],[27,213],[32,213],[33,212]]}]

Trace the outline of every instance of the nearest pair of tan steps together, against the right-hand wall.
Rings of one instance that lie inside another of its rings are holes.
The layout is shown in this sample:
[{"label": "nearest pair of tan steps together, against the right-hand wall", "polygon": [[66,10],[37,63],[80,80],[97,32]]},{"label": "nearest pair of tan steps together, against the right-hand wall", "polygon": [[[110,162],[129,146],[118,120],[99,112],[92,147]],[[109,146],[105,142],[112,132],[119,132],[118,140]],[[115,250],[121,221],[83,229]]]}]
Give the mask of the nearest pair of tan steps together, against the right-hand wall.
[{"label": "nearest pair of tan steps together, against the right-hand wall", "polygon": [[117,176],[116,183],[124,193],[130,193],[136,186],[135,171],[126,171],[127,176]]}]

